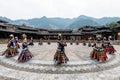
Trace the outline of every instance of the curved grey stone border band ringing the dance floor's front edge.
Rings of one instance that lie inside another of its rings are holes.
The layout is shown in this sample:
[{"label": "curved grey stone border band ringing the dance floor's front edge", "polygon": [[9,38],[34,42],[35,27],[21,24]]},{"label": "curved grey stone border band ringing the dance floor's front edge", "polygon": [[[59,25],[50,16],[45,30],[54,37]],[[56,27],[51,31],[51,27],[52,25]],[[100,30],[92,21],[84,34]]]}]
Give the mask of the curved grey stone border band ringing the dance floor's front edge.
[{"label": "curved grey stone border band ringing the dance floor's front edge", "polygon": [[51,73],[51,74],[78,74],[78,73],[90,73],[90,72],[99,72],[104,70],[109,70],[120,65],[120,55],[112,55],[114,56],[113,60],[110,60],[106,63],[95,63],[91,65],[73,65],[73,66],[43,66],[29,63],[17,63],[14,60],[8,60],[2,58],[0,61],[0,65],[15,69],[22,70],[27,72],[35,72],[35,73]]}]

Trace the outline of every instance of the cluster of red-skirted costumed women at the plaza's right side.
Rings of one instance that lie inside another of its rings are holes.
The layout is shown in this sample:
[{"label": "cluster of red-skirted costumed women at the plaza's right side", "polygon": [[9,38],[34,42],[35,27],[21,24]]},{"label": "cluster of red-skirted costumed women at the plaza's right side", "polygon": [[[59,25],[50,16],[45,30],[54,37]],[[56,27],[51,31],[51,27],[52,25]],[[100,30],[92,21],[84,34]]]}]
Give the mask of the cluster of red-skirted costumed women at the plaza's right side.
[{"label": "cluster of red-skirted costumed women at the plaza's right side", "polygon": [[101,39],[100,36],[97,37],[97,40],[93,44],[93,51],[91,51],[90,56],[92,59],[99,62],[105,62],[108,59],[107,54],[114,54],[116,50],[114,49],[111,38],[107,40],[106,37]]}]

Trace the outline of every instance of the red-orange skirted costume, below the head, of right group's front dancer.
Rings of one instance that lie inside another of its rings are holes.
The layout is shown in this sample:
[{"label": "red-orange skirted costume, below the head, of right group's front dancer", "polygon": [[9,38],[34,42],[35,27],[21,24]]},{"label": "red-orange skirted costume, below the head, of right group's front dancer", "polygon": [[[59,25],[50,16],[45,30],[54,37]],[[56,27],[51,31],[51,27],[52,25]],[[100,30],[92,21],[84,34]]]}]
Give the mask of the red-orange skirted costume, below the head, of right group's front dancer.
[{"label": "red-orange skirted costume, below the head, of right group's front dancer", "polygon": [[98,61],[106,61],[108,59],[105,49],[102,46],[102,41],[97,40],[93,51],[90,53],[92,59]]}]

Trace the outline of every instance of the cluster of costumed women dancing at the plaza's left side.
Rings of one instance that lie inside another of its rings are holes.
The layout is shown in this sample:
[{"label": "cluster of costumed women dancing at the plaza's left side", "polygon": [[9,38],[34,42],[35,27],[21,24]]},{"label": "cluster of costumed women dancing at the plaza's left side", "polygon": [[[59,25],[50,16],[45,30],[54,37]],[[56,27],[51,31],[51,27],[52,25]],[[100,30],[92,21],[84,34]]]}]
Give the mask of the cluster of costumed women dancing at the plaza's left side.
[{"label": "cluster of costumed women dancing at the plaza's left side", "polygon": [[[22,35],[22,51],[18,57],[19,62],[25,62],[30,60],[33,55],[28,49],[28,45],[31,44],[31,42],[27,42],[27,36],[25,34]],[[7,44],[7,49],[2,53],[2,56],[5,55],[8,57],[14,57],[18,55],[20,48],[18,37],[14,37],[14,35],[10,35],[10,39]]]}]

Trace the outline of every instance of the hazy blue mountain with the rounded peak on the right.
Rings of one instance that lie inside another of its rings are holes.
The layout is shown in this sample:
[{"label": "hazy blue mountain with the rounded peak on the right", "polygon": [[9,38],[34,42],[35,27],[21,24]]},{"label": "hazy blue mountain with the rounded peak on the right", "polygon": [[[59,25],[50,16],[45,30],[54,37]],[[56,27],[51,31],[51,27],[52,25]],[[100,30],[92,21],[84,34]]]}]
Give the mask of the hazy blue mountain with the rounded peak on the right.
[{"label": "hazy blue mountain with the rounded peak on the right", "polygon": [[103,17],[103,18],[93,18],[85,15],[81,15],[74,18],[74,22],[68,26],[68,28],[78,29],[82,26],[103,26],[111,22],[120,21],[120,17]]}]

